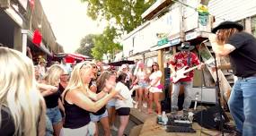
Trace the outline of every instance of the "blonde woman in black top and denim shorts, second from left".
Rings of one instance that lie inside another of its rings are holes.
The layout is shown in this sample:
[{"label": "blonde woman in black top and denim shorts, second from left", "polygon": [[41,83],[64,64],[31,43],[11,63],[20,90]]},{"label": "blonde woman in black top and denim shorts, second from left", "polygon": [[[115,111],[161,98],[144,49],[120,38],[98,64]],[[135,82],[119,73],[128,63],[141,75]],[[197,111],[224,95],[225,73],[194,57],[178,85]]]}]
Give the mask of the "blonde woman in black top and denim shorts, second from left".
[{"label": "blonde woman in black top and denim shorts, second from left", "polygon": [[[49,70],[45,73],[44,83],[58,87],[62,74],[64,74],[64,69],[60,65],[54,64],[50,66]],[[47,106],[47,115],[52,123],[55,135],[58,136],[63,125],[62,116],[59,110],[59,107],[62,105],[60,102],[60,90],[57,89],[56,92],[50,93],[44,98]]]}]

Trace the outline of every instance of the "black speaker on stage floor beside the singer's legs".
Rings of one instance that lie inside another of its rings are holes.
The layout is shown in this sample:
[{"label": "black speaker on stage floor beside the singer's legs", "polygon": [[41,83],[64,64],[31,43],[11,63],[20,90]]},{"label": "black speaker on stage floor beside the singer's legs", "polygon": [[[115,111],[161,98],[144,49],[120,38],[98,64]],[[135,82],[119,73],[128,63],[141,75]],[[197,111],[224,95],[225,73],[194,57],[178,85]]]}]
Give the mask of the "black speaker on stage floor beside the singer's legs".
[{"label": "black speaker on stage floor beside the singer's legs", "polygon": [[[223,125],[229,122],[227,115],[225,115],[224,110],[221,108],[222,113],[222,123]],[[199,111],[195,114],[195,120],[199,123],[202,127],[207,129],[216,129],[221,131],[221,118],[219,113],[218,106],[212,106],[202,111]]]}]

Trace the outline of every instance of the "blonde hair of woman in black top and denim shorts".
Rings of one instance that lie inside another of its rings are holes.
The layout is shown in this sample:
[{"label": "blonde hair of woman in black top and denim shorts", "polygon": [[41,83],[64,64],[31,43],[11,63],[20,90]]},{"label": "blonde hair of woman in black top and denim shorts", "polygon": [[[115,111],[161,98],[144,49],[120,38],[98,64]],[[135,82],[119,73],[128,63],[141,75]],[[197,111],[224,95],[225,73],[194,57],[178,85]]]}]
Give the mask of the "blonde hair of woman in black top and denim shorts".
[{"label": "blonde hair of woman in black top and denim shorts", "polygon": [[63,73],[64,73],[64,69],[59,64],[53,64],[49,67],[49,70],[45,73],[44,80],[49,85],[57,86],[60,81],[60,76]]}]

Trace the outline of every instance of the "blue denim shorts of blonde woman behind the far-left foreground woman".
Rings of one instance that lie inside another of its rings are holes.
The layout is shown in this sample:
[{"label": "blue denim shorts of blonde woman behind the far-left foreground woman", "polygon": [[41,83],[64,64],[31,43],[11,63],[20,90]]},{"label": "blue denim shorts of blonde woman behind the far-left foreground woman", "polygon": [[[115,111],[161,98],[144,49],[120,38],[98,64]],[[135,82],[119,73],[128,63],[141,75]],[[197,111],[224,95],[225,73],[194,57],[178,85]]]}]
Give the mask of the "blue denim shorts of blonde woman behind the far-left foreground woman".
[{"label": "blue denim shorts of blonde woman behind the far-left foreground woman", "polygon": [[47,108],[46,115],[49,117],[49,121],[52,124],[57,124],[62,121],[62,117],[57,106],[53,108]]}]

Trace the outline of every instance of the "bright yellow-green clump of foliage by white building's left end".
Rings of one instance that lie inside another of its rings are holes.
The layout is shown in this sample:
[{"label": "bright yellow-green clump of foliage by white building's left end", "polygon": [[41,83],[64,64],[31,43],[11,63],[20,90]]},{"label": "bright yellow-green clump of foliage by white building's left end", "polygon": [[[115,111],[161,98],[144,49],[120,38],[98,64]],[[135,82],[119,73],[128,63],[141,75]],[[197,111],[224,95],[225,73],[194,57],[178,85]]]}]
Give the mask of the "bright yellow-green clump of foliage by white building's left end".
[{"label": "bright yellow-green clump of foliage by white building's left end", "polygon": [[110,59],[113,59],[115,53],[122,49],[119,43],[114,42],[117,36],[116,29],[110,26],[102,34],[95,36],[93,38],[93,57],[96,60],[102,60],[103,55],[110,54]]}]

